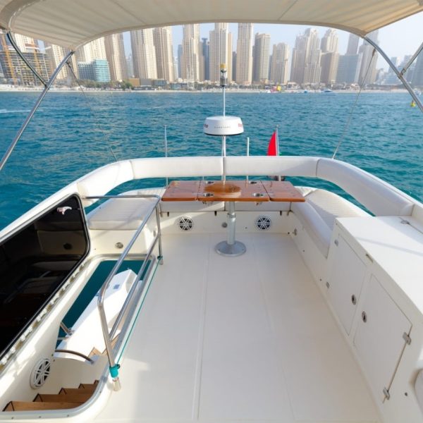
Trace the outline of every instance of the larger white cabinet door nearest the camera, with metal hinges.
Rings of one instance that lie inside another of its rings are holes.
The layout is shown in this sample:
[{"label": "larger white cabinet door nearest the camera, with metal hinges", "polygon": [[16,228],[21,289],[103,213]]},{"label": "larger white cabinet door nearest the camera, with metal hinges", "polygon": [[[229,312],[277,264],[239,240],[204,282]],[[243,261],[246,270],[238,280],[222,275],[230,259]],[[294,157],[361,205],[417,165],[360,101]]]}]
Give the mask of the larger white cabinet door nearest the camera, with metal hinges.
[{"label": "larger white cabinet door nearest the camera, with metal hinges", "polygon": [[411,323],[372,275],[354,344],[376,396],[384,400],[405,348]]}]

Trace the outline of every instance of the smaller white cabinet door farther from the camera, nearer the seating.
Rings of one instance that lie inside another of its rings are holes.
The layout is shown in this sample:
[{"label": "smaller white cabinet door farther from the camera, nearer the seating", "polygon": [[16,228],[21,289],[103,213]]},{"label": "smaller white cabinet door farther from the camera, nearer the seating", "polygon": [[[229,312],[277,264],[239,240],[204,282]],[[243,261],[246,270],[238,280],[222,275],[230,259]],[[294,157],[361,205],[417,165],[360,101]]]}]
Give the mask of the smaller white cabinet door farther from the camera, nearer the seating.
[{"label": "smaller white cabinet door farther from the camera, nearer the seating", "polygon": [[341,235],[333,256],[329,300],[349,334],[366,275],[366,265]]}]

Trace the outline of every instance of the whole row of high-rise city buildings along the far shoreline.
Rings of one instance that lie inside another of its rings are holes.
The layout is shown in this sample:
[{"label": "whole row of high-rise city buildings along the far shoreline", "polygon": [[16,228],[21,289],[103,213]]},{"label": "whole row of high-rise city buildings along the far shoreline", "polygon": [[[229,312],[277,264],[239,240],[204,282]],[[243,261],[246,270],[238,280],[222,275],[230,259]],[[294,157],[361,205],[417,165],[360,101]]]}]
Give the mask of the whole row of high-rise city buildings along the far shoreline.
[{"label": "whole row of high-rise city buildings along the far shoreline", "polygon": [[[82,78],[81,74],[81,79],[99,82],[123,81],[135,77],[143,81],[164,80],[163,83],[168,83],[178,77],[191,85],[204,80],[213,83],[219,82],[220,63],[226,63],[228,83],[237,82],[240,85],[269,82],[296,82],[298,85],[322,83],[328,86],[358,82],[364,85],[376,80],[382,84],[394,83],[386,82],[386,72],[380,72],[380,55],[374,54],[372,45],[355,35],[332,28],[305,25],[264,26],[279,29],[297,27],[302,32],[298,32],[293,44],[288,44],[272,39],[267,32],[259,32],[262,24],[188,24],[182,26],[183,39],[178,44],[177,41],[173,43],[173,34],[179,27],[133,30],[85,44],[76,51],[73,67],[85,75]],[[202,37],[207,28],[211,28],[207,37]],[[345,35],[348,35],[348,39],[345,39]],[[378,43],[382,36],[383,33],[377,30],[368,37]],[[47,63],[50,73],[64,55],[60,47],[43,44],[23,35],[16,35],[16,43],[24,53],[32,52],[35,61],[39,54],[44,55],[39,58]],[[403,51],[404,56],[406,53]],[[132,60],[128,60],[128,56]],[[404,56],[391,56],[391,60],[400,64],[406,60]],[[7,54],[3,60],[4,66],[8,66],[10,58],[7,58]],[[133,72],[130,71],[131,61]],[[174,68],[178,68],[178,72]],[[93,74],[101,75],[101,79],[87,77]],[[62,71],[58,79],[68,76]],[[412,68],[410,78],[415,80]],[[391,79],[390,76],[388,80]]]}]

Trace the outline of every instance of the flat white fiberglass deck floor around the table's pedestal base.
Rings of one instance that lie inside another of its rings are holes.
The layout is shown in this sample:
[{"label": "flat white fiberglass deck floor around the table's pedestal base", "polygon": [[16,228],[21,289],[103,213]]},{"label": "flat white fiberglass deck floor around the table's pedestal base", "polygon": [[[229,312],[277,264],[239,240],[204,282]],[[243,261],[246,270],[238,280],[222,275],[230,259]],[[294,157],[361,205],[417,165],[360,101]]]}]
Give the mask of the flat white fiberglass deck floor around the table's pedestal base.
[{"label": "flat white fiberglass deck floor around the table's pedestal base", "polygon": [[99,421],[379,422],[352,354],[288,235],[167,235]]}]

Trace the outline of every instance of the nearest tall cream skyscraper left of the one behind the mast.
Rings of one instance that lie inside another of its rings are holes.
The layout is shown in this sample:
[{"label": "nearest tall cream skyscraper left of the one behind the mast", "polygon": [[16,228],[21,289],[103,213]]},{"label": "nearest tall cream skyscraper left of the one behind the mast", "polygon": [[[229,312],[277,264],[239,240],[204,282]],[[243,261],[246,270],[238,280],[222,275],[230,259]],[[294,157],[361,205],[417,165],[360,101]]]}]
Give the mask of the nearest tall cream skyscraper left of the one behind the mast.
[{"label": "nearest tall cream skyscraper left of the one behind the mast", "polygon": [[200,25],[183,25],[180,73],[187,81],[200,80]]}]

